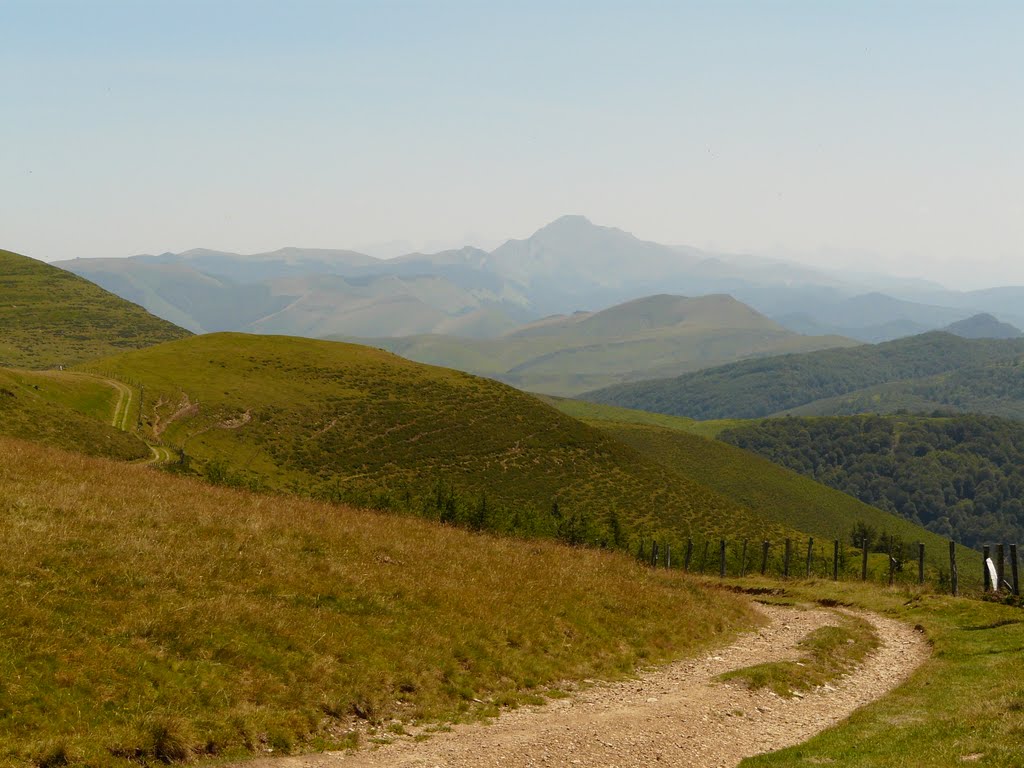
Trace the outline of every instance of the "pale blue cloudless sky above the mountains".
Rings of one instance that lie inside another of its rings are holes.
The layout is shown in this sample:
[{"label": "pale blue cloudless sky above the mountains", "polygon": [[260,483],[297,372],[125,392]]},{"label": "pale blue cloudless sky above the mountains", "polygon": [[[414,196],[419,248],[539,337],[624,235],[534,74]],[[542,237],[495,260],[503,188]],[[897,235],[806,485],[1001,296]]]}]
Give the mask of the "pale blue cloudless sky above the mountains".
[{"label": "pale blue cloudless sky above the mountains", "polygon": [[575,213],[1024,284],[1017,0],[0,0],[0,247],[47,261]]}]

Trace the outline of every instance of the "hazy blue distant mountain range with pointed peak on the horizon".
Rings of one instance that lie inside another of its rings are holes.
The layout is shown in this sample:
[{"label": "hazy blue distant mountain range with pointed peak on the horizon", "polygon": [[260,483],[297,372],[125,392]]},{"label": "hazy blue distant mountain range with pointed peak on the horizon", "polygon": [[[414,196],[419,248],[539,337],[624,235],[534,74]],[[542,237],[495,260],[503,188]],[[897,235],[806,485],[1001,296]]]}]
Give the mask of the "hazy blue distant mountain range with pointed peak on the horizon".
[{"label": "hazy blue distant mountain range with pointed peak on the horizon", "polygon": [[785,262],[639,240],[563,216],[493,251],[377,259],[285,248],[56,262],[196,333],[494,338],[551,314],[655,294],[728,294],[783,328],[878,342],[979,312],[1024,325],[1024,288],[962,293],[924,281],[850,278]]}]

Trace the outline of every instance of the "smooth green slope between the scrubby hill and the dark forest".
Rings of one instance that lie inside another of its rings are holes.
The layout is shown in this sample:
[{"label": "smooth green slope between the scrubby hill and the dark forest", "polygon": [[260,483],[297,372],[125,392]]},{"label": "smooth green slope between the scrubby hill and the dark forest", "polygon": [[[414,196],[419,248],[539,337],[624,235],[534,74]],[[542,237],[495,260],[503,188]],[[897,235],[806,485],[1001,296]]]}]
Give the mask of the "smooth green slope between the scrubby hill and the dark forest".
[{"label": "smooth green slope between the scrubby hill and the dark forest", "polygon": [[[574,400],[555,404],[755,514],[819,541],[839,539],[844,546],[853,544],[851,534],[860,525],[873,529],[877,536],[891,534],[908,545],[925,542],[932,568],[948,570],[946,539],[768,459],[700,434],[706,425],[714,423],[586,403],[586,412],[581,413],[581,403]],[[743,424],[732,421],[719,423],[719,427]]]}]

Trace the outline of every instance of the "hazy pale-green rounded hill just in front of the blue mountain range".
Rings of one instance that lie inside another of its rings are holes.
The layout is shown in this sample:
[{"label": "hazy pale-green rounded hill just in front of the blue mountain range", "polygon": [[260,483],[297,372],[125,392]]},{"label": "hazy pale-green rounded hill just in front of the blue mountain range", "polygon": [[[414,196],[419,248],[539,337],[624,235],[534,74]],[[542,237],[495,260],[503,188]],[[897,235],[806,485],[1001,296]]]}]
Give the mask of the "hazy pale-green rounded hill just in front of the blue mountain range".
[{"label": "hazy pale-green rounded hill just in front of the blue mountain range", "polygon": [[350,340],[549,394],[854,343],[794,334],[729,296],[668,295],[599,312],[545,317],[498,339],[433,335]]}]

